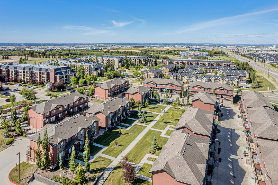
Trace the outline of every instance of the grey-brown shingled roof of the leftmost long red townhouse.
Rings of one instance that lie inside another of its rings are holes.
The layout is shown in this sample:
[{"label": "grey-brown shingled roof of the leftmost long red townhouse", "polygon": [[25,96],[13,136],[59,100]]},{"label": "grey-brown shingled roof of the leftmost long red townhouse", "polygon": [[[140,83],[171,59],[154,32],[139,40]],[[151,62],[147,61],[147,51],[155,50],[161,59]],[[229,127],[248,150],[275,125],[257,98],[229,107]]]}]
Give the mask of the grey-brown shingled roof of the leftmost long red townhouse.
[{"label": "grey-brown shingled roof of the leftmost long red townhouse", "polygon": [[46,112],[53,110],[55,107],[65,106],[70,103],[74,103],[74,102],[78,101],[80,98],[88,98],[88,97],[89,96],[75,92],[75,93],[70,93],[70,94],[60,96],[57,98],[51,98],[48,101],[37,104],[35,106],[31,106],[30,108],[33,109],[35,112],[44,114]]}]

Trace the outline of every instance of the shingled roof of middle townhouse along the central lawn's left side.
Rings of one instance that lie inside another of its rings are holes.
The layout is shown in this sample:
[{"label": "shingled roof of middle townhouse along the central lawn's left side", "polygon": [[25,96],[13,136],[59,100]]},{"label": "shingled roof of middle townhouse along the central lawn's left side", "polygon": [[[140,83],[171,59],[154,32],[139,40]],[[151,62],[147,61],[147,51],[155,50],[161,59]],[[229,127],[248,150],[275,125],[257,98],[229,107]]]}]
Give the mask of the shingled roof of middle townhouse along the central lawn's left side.
[{"label": "shingled roof of middle townhouse along the central lawn's left side", "polygon": [[110,112],[114,112],[120,109],[120,107],[125,106],[128,102],[131,102],[131,100],[126,97],[114,97],[101,104],[93,104],[90,107],[90,109],[86,110],[85,112],[88,112],[90,114],[96,114],[97,112],[101,112],[105,116],[108,116]]}]

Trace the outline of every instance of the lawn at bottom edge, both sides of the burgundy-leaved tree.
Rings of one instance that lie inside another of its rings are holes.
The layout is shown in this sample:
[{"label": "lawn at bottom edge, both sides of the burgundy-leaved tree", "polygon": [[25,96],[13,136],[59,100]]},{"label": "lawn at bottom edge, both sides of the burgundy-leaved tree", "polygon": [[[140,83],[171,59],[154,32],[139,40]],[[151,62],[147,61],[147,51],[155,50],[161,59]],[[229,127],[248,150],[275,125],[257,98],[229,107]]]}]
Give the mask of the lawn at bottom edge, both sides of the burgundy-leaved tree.
[{"label": "lawn at bottom edge, both sides of the burgundy-leaved tree", "polygon": [[[136,178],[133,185],[151,185],[152,182]],[[110,176],[104,182],[104,185],[128,185],[123,179],[123,169],[120,163],[115,166]]]}]

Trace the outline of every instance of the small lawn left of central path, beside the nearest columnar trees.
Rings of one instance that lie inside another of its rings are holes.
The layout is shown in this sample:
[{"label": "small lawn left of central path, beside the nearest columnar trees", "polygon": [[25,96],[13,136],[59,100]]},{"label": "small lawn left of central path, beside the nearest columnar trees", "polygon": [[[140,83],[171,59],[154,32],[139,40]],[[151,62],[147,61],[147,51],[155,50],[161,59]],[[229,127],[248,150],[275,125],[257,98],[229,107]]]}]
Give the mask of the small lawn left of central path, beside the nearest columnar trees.
[{"label": "small lawn left of central path, beside the nearest columnar trees", "polygon": [[90,174],[90,182],[95,181],[95,179],[100,175],[101,171],[111,164],[111,160],[105,157],[98,156],[91,164],[90,169],[92,169]]}]

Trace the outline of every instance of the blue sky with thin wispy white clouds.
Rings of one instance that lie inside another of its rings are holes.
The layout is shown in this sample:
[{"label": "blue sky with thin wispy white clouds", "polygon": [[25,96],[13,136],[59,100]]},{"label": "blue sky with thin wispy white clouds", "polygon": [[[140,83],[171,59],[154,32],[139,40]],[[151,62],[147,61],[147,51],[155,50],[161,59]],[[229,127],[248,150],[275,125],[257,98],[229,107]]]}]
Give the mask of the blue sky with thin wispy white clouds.
[{"label": "blue sky with thin wispy white clouds", "polygon": [[2,1],[0,43],[278,44],[277,1]]}]

